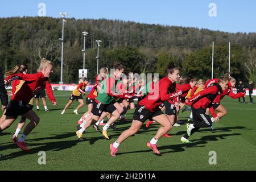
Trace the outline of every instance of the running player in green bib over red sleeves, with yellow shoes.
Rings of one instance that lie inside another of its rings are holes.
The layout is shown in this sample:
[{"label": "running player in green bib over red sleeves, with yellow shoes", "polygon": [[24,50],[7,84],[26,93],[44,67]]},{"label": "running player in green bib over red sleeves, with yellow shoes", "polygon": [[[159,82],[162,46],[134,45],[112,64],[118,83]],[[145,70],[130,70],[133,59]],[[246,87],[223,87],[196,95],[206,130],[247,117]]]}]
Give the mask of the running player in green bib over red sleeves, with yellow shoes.
[{"label": "running player in green bib over red sleeves, with yellow shoes", "polygon": [[108,123],[101,130],[102,135],[109,139],[108,137],[108,128],[112,125],[117,119],[120,117],[120,113],[117,107],[114,106],[114,97],[121,98],[132,98],[128,94],[122,94],[115,92],[115,81],[124,71],[124,68],[117,61],[114,63],[115,71],[111,73],[104,81],[101,82],[101,88],[98,92],[98,96],[95,98],[93,102],[92,114],[85,119],[80,125],[81,129],[76,132],[76,135],[79,139],[82,139],[82,133],[84,133],[85,129],[87,129],[90,125],[97,122],[101,117],[103,111],[112,114]]}]

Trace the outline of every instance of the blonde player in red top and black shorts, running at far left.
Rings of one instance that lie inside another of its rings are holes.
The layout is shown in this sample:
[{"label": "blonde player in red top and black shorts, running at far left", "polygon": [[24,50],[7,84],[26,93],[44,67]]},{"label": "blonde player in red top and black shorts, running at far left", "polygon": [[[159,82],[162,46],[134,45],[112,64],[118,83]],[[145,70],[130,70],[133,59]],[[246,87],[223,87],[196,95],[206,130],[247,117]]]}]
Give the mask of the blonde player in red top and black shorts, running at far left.
[{"label": "blonde player in red top and black shorts, running at far left", "polygon": [[[40,119],[36,113],[28,107],[28,103],[31,98],[40,90],[48,88],[51,89],[51,85],[49,83],[49,75],[53,72],[52,62],[46,59],[42,59],[40,64],[40,72],[35,74],[24,74],[18,73],[15,75],[11,75],[5,79],[5,84],[8,84],[13,80],[24,80],[23,86],[20,88],[19,92],[14,94],[11,97],[10,104],[6,108],[6,119],[0,125],[0,132],[7,129],[11,126],[11,124],[21,115],[24,118],[30,119],[30,123],[25,127],[23,134],[20,136],[18,140],[15,141],[15,144],[20,147],[22,150],[27,151],[28,148],[25,144],[25,139],[27,135],[31,133],[31,131],[38,125]],[[49,94],[50,96],[51,94]],[[52,101],[52,104],[57,106],[57,102],[54,97],[49,97]]]}]

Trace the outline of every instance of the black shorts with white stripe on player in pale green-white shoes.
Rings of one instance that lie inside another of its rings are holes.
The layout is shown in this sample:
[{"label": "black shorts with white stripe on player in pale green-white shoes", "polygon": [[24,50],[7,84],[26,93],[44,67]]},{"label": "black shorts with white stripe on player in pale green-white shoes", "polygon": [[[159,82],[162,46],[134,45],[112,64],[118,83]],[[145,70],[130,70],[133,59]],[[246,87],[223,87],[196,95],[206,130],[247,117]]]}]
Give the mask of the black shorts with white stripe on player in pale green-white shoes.
[{"label": "black shorts with white stripe on player in pale green-white shoes", "polygon": [[206,114],[206,109],[200,107],[199,109],[195,109],[195,107],[191,107],[193,113],[193,123],[204,122],[209,127],[212,126],[212,120],[209,115]]}]

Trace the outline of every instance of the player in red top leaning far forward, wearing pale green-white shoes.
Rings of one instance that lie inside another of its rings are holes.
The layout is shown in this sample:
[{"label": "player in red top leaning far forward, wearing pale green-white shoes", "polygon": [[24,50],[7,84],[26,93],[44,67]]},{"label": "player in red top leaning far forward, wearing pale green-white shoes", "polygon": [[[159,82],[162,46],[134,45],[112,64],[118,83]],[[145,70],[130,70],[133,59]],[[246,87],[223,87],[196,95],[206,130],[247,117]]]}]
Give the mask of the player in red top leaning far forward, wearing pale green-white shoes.
[{"label": "player in red top leaning far forward, wearing pale green-white shoes", "polygon": [[[206,114],[206,109],[212,107],[214,99],[223,93],[228,86],[228,77],[218,79],[218,84],[205,88],[195,96],[188,98],[186,102],[192,102],[193,124],[187,124],[187,134],[181,137],[181,142],[190,143],[189,136],[198,131],[201,127],[211,127],[212,120]],[[218,120],[218,118],[215,118]]]}]

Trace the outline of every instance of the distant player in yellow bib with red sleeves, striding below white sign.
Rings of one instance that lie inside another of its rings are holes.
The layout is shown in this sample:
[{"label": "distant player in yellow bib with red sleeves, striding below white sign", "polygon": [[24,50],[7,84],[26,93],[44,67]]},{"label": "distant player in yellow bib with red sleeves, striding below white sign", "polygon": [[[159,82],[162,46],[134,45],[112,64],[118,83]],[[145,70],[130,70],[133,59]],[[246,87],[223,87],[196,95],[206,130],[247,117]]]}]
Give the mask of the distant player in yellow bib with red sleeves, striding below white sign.
[{"label": "distant player in yellow bib with red sleeves, striding below white sign", "polygon": [[68,109],[68,107],[72,104],[72,102],[77,100],[77,101],[79,101],[80,105],[77,106],[77,108],[73,112],[75,114],[79,115],[79,113],[77,113],[77,111],[79,109],[81,109],[82,106],[84,106],[84,100],[82,99],[82,95],[81,94],[85,95],[85,88],[86,88],[86,85],[89,82],[88,78],[86,78],[86,77],[81,78],[81,79],[82,79],[82,82],[80,82],[80,84],[77,85],[76,89],[72,92],[72,94],[71,94],[71,96],[69,98],[68,104],[65,106],[65,108],[61,112],[61,114],[64,114],[65,111]]}]

